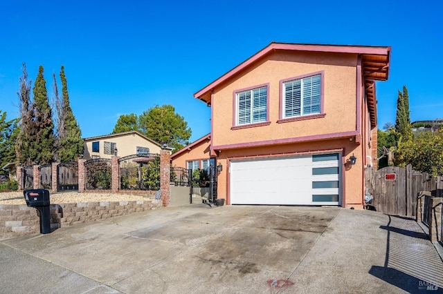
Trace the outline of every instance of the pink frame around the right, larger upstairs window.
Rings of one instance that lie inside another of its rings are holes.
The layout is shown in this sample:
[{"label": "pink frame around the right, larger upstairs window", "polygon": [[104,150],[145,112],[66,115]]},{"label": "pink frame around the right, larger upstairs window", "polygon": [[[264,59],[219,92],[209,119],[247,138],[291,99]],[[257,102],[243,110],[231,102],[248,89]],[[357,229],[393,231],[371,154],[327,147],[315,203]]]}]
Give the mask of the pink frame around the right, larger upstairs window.
[{"label": "pink frame around the right, larger upstairs window", "polygon": [[[285,102],[286,102],[284,99],[284,84],[288,83],[289,81],[302,80],[302,79],[306,79],[308,77],[314,77],[316,75],[320,75],[320,113],[308,114],[308,115],[300,114],[299,116],[284,117],[284,108],[285,108]],[[325,115],[326,115],[325,114],[325,71],[320,70],[318,72],[310,72],[309,74],[306,74],[306,75],[299,75],[296,77],[289,77],[287,79],[280,80],[279,95],[280,95],[280,114],[279,114],[279,119],[277,121],[278,123],[325,117]]]}]

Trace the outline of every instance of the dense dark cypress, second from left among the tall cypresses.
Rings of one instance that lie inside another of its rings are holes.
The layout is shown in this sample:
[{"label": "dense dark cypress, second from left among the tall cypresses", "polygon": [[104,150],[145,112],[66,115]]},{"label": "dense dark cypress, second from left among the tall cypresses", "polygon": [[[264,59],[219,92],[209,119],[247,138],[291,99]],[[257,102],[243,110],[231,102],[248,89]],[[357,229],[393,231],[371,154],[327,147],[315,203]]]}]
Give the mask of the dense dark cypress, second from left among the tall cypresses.
[{"label": "dense dark cypress, second from left among the tall cypresses", "polygon": [[54,124],[43,72],[43,66],[39,66],[33,89],[36,134],[33,146],[34,150],[37,151],[35,160],[37,164],[49,164],[54,158]]}]

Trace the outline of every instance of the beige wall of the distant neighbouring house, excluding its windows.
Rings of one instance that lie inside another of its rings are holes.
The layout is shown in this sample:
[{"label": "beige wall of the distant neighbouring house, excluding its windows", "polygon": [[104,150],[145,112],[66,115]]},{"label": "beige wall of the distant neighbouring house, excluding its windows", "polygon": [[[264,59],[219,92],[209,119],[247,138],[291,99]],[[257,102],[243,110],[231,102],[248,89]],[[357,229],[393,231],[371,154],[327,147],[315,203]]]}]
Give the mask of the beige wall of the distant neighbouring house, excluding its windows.
[{"label": "beige wall of the distant neighbouring house, excluding its windows", "polygon": [[[136,131],[125,133],[104,135],[98,137],[89,137],[84,140],[84,159],[93,157],[111,158],[114,154],[105,154],[105,142],[116,144],[118,157],[137,154],[137,147],[149,148],[149,153],[159,154],[161,145]],[[92,152],[92,143],[98,141],[99,152]]]}]

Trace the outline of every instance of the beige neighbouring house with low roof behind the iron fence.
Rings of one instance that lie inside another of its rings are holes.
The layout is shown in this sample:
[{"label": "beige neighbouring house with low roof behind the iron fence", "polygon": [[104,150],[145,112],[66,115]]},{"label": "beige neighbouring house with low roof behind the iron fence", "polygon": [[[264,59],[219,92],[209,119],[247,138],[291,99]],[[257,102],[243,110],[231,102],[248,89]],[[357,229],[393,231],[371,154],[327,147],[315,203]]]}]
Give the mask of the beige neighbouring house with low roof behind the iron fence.
[{"label": "beige neighbouring house with low roof behind the iron fence", "polygon": [[97,137],[84,138],[84,159],[125,157],[134,154],[156,153],[161,144],[138,133],[136,130]]}]

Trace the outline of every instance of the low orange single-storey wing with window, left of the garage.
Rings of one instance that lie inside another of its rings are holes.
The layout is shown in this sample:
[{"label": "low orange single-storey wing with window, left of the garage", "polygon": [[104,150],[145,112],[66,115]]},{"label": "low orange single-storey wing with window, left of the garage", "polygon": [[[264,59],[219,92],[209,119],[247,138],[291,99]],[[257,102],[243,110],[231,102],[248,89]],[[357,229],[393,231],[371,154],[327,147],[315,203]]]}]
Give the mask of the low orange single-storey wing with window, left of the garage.
[{"label": "low orange single-storey wing with window, left of the garage", "polygon": [[210,134],[197,139],[183,149],[171,155],[171,165],[182,168],[206,170],[215,166],[215,156],[210,156]]}]

